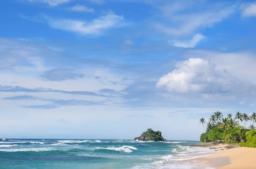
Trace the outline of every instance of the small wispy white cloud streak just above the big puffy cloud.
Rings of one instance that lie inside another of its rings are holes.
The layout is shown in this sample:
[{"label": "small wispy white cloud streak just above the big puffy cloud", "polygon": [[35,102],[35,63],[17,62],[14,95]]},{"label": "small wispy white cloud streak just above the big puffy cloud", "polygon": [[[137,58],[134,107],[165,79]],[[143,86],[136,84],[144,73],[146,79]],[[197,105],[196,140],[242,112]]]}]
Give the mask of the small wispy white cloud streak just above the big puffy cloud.
[{"label": "small wispy white cloud streak just above the big puffy cloud", "polygon": [[171,45],[176,47],[182,47],[182,48],[194,48],[198,42],[205,39],[205,37],[201,34],[196,34],[191,40],[189,41],[177,41],[173,40]]}]

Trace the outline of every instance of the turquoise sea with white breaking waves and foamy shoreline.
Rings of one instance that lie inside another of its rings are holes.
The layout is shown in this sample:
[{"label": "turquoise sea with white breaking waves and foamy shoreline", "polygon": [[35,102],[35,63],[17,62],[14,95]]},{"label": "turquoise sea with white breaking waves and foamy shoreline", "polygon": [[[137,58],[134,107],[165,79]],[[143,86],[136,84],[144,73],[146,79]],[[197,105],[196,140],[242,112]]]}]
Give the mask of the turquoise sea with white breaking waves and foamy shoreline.
[{"label": "turquoise sea with white breaking waves and foamy shoreline", "polygon": [[211,150],[198,141],[6,139],[0,169],[184,169]]}]

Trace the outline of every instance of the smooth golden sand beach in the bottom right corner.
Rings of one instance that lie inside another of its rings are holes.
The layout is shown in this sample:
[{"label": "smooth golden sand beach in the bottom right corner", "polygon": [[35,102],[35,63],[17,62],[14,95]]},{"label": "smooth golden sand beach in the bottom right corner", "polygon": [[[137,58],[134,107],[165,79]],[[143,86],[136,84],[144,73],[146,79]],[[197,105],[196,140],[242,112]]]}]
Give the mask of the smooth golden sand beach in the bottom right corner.
[{"label": "smooth golden sand beach in the bottom right corner", "polygon": [[198,158],[197,161],[217,169],[256,169],[256,148],[237,147],[214,153],[212,156]]}]

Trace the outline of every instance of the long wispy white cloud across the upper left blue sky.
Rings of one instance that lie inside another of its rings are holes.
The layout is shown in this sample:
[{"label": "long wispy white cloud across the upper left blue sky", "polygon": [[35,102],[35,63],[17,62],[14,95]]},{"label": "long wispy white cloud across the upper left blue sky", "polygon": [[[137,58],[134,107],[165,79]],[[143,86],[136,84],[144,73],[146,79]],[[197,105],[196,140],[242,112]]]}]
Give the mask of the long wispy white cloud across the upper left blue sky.
[{"label": "long wispy white cloud across the upper left blue sky", "polygon": [[101,16],[92,21],[53,19],[44,15],[44,19],[50,27],[64,31],[72,31],[82,35],[101,34],[109,28],[121,27],[124,18],[115,14]]}]

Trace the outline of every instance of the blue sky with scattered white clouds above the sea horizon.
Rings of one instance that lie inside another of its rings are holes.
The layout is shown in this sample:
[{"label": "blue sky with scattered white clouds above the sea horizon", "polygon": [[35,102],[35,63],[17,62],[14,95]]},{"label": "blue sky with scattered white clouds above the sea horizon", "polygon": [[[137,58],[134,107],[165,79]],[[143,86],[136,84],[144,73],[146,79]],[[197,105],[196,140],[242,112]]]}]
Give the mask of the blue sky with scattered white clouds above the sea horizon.
[{"label": "blue sky with scattered white clouds above the sea horizon", "polygon": [[200,118],[256,111],[255,0],[4,0],[0,14],[2,138],[199,140]]}]

